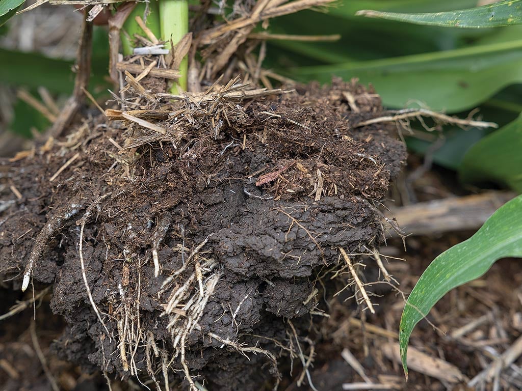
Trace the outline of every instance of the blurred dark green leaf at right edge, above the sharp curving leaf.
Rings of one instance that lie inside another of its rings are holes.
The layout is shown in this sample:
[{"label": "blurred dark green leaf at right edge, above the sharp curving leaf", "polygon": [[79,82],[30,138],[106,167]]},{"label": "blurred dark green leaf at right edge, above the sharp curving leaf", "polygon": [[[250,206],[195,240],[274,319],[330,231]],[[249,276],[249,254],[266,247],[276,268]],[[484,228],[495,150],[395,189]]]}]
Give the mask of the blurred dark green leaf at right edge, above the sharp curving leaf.
[{"label": "blurred dark green leaf at right edge, above the sharp curving leaf", "polygon": [[522,193],[522,115],[473,144],[464,156],[460,178],[490,180]]}]

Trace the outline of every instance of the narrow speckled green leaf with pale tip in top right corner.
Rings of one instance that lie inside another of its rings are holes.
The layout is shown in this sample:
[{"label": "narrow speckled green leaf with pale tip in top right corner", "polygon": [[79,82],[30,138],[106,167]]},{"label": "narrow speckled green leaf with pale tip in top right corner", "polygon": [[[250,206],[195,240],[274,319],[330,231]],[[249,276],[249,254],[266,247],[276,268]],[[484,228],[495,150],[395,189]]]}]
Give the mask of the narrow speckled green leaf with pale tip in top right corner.
[{"label": "narrow speckled green leaf with pale tip in top right corner", "polygon": [[449,12],[401,14],[365,9],[358,11],[355,15],[396,20],[416,25],[483,29],[522,23],[522,0],[505,0],[482,7]]}]

